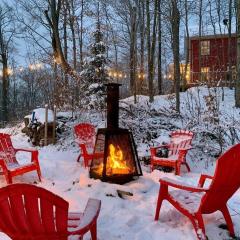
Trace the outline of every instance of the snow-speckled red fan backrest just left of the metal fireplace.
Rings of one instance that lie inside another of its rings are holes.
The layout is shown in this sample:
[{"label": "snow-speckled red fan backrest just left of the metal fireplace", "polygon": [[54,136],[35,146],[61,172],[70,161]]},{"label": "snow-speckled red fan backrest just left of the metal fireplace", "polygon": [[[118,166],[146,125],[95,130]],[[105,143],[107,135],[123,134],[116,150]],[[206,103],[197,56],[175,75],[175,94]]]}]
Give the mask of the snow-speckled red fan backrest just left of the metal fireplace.
[{"label": "snow-speckled red fan backrest just left of the metal fireplace", "polygon": [[95,144],[95,127],[90,123],[80,123],[74,126],[74,132],[79,144],[93,148]]}]

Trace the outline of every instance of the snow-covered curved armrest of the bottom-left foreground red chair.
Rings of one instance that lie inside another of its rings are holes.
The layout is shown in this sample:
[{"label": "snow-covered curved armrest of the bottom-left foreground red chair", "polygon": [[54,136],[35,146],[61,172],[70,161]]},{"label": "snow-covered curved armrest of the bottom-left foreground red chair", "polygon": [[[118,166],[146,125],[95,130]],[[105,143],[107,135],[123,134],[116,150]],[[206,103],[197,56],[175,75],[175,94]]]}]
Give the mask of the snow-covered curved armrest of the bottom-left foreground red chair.
[{"label": "snow-covered curved armrest of the bottom-left foreground red chair", "polygon": [[73,231],[68,231],[69,234],[84,234],[87,232],[90,227],[96,223],[99,212],[101,209],[101,201],[98,199],[90,198],[88,199],[86,208],[83,212],[83,216],[80,219],[79,225],[77,228],[74,228]]}]

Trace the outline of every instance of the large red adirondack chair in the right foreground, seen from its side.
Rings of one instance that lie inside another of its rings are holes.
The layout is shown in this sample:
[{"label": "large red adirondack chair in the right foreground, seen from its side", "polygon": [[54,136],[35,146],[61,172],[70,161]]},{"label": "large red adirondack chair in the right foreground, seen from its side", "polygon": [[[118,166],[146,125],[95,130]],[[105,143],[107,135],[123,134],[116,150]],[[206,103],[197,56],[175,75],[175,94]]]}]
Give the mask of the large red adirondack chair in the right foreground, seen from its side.
[{"label": "large red adirondack chair in the right foreground, seen from its side", "polygon": [[[201,175],[198,187],[160,179],[155,220],[158,220],[163,200],[169,201],[178,211],[187,216],[196,231],[198,239],[205,240],[205,227],[202,214],[221,211],[230,235],[235,235],[227,201],[240,187],[240,144],[233,146],[217,160],[214,176]],[[211,179],[209,187],[204,188],[205,180]],[[180,190],[168,191],[168,187]],[[184,190],[184,191],[181,191]]]}]

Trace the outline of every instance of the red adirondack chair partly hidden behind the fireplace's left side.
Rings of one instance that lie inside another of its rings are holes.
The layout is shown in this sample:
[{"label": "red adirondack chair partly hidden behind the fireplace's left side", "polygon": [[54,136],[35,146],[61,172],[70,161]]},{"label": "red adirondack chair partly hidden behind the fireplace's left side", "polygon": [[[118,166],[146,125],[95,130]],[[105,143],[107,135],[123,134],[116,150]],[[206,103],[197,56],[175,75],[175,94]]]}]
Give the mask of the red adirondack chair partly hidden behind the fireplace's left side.
[{"label": "red adirondack chair partly hidden behind the fireplace's left side", "polygon": [[78,162],[80,161],[80,158],[82,156],[84,167],[87,168],[90,166],[93,157],[103,157],[103,153],[93,154],[96,133],[95,127],[92,124],[80,123],[74,126],[74,132],[76,136],[76,142],[79,144],[81,150],[77,158]]}]

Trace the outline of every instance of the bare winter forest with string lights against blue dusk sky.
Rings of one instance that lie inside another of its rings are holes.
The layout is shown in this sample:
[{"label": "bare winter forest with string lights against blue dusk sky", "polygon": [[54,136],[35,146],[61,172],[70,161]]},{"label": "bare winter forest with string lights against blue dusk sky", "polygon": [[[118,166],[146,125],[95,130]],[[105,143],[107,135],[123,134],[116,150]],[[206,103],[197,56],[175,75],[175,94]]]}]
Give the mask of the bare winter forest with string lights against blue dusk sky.
[{"label": "bare winter forest with string lights against blue dusk sky", "polygon": [[[189,37],[231,36],[236,15],[236,0],[2,1],[0,121],[45,104],[78,111],[89,87],[108,81],[123,84],[122,96],[144,94],[150,102],[174,91],[180,111],[186,79],[179,64],[189,61]],[[173,83],[166,79],[172,62]]]}]

